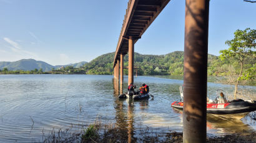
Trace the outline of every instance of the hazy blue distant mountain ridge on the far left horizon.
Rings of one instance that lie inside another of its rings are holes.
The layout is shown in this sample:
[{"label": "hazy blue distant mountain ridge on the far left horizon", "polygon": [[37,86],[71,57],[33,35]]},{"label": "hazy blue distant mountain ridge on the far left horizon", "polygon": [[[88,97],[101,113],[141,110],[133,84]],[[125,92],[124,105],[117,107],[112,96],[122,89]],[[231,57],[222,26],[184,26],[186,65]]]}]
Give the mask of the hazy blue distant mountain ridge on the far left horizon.
[{"label": "hazy blue distant mountain ridge on the far left horizon", "polygon": [[0,69],[7,68],[8,70],[38,70],[42,68],[43,71],[51,71],[52,68],[57,69],[59,67],[72,66],[74,68],[79,68],[87,62],[72,63],[69,65],[50,65],[49,63],[37,61],[34,59],[22,59],[15,62],[0,62]]}]

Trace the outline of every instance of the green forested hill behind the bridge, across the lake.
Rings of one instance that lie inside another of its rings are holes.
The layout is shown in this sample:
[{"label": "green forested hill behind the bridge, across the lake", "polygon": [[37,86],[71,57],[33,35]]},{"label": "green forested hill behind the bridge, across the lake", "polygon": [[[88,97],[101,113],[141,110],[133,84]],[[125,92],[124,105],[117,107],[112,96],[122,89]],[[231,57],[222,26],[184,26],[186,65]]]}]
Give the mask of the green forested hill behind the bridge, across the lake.
[{"label": "green forested hill behind the bridge, across the lake", "polygon": [[[87,74],[112,74],[115,53],[101,55],[86,63]],[[217,56],[209,55],[208,65],[212,65]],[[134,66],[138,68],[138,75],[182,75],[184,52],[176,51],[166,55],[142,55],[135,53]],[[124,57],[124,67],[128,66],[128,55]],[[127,75],[127,70],[124,70]]]}]

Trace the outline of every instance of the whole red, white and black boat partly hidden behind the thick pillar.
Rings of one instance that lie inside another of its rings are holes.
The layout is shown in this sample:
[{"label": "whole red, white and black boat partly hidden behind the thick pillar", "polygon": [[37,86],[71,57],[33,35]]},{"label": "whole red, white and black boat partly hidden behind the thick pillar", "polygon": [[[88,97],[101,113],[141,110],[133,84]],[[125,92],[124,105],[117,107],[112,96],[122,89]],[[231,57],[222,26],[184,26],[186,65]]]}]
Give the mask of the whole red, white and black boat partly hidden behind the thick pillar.
[{"label": "whole red, white and black boat partly hidden behind the thick pillar", "polygon": [[[222,91],[223,90],[217,90]],[[181,101],[174,101],[172,107],[176,109],[183,109],[183,91],[182,86],[180,86],[180,97]],[[235,114],[235,113],[247,113],[251,111],[256,111],[256,101],[254,100],[243,100],[237,99],[232,101],[227,101],[226,103],[219,102],[219,96],[217,98],[207,103],[207,113],[210,114]]]}]

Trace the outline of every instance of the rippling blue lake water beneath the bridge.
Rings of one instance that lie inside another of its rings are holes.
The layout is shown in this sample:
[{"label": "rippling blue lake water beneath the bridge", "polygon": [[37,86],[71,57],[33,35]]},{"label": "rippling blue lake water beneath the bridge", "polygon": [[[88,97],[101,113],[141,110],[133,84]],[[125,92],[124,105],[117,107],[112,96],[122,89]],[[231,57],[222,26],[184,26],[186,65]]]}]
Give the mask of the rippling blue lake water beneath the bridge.
[{"label": "rippling blue lake water beneath the bridge", "polygon": [[[137,87],[142,83],[149,85],[155,98],[133,103],[119,100],[121,86],[112,75],[0,75],[0,142],[42,141],[42,134],[52,129],[81,129],[96,119],[129,127],[134,134],[141,127],[182,132],[182,113],[170,104],[180,99],[179,86],[183,81],[138,76],[134,83]],[[126,85],[127,76],[123,91]],[[255,86],[239,88],[255,97]],[[208,83],[207,95],[214,99],[217,89],[231,95],[234,86]],[[250,116],[207,116],[209,136],[243,130],[256,131],[256,122]]]}]

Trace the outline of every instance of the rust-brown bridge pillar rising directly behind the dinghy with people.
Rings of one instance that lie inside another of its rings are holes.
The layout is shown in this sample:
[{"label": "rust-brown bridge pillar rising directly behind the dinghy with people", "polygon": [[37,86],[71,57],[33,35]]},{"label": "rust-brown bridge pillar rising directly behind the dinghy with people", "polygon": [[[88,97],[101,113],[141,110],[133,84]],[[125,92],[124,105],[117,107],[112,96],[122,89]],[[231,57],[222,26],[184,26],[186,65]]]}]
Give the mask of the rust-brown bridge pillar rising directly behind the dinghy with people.
[{"label": "rust-brown bridge pillar rising directly behind the dinghy with people", "polygon": [[128,85],[134,83],[134,40],[129,36],[129,70],[128,70]]}]

